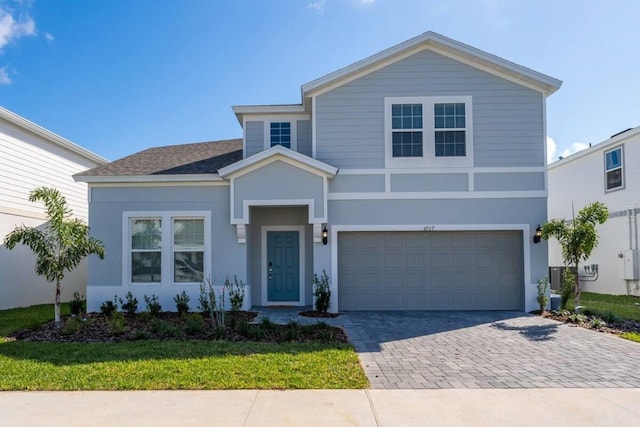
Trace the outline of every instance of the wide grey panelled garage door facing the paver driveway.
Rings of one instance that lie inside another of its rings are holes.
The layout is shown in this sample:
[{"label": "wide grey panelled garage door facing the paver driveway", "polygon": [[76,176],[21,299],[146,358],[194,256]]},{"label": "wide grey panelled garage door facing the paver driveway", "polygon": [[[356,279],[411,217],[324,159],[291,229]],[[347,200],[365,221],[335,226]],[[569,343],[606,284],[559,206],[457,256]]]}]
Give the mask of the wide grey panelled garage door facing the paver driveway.
[{"label": "wide grey panelled garage door facing the paver driveway", "polygon": [[340,310],[523,310],[522,233],[338,233]]}]

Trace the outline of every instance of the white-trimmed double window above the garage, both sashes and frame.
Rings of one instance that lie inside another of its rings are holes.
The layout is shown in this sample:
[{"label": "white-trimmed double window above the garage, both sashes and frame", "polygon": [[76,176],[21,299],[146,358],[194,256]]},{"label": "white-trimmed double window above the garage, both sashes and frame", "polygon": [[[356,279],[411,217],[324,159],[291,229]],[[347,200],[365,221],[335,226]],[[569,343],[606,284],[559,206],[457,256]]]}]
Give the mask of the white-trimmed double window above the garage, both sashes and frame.
[{"label": "white-trimmed double window above the garage, both sashes and frame", "polygon": [[385,165],[473,166],[472,98],[385,98]]}]

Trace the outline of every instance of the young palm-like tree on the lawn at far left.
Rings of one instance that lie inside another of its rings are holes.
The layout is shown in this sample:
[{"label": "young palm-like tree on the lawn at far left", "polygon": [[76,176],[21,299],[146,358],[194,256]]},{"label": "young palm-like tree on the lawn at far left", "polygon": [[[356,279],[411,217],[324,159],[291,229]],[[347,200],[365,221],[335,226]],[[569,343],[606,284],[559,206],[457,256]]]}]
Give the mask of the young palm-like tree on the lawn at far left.
[{"label": "young palm-like tree on the lawn at far left", "polygon": [[28,246],[36,255],[36,274],[56,284],[55,322],[60,322],[60,289],[66,271],[80,261],[96,254],[104,258],[102,242],[89,237],[89,227],[80,219],[71,218],[67,201],[55,188],[40,187],[29,194],[29,201],[41,201],[47,208],[48,222],[38,228],[21,225],[4,239],[7,249],[18,243]]}]

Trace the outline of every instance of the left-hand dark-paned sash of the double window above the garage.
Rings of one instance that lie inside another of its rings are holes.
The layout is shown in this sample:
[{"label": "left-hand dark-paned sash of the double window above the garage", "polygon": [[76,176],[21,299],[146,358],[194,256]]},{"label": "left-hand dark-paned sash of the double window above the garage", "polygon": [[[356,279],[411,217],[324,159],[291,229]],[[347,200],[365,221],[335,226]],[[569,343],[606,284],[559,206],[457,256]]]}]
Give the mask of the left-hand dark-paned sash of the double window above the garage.
[{"label": "left-hand dark-paned sash of the double window above the garage", "polygon": [[391,106],[393,157],[422,157],[422,104]]}]

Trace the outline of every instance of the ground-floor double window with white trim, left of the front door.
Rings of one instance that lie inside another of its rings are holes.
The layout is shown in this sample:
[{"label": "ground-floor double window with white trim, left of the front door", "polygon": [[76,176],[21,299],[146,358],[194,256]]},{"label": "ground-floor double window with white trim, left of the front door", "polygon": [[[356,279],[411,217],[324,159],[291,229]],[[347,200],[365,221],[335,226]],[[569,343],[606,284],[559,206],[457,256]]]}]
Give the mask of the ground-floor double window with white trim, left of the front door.
[{"label": "ground-floor double window with white trim, left of the front door", "polygon": [[193,284],[209,273],[209,212],[125,212],[124,283]]}]

